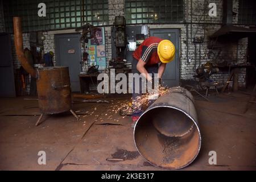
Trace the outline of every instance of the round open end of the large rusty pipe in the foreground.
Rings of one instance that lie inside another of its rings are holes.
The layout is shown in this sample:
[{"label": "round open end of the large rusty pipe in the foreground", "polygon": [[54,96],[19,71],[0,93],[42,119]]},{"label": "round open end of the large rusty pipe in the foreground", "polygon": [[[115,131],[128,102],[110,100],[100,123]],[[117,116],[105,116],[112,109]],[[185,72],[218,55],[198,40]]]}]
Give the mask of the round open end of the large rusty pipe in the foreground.
[{"label": "round open end of the large rusty pipe in the foreground", "polygon": [[141,155],[154,166],[178,169],[188,166],[200,149],[200,133],[183,111],[156,106],[139,118],[134,140]]}]

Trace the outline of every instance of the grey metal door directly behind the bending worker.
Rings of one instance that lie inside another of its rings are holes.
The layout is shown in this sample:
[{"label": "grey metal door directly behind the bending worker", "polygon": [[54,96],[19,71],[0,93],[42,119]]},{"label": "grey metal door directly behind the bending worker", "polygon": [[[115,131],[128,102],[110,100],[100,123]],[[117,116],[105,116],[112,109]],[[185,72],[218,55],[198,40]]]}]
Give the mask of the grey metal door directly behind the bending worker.
[{"label": "grey metal door directly behind the bending worker", "polygon": [[175,59],[166,65],[166,70],[163,74],[163,82],[165,85],[179,86],[179,29],[150,29],[150,36],[157,36],[162,39],[171,40],[176,48]]}]

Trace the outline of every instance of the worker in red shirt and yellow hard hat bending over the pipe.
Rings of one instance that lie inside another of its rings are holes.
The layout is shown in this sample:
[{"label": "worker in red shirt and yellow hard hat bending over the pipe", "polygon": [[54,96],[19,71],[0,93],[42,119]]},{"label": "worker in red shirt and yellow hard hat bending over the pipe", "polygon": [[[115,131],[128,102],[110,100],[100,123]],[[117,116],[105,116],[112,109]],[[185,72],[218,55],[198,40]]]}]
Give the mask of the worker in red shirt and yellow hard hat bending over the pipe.
[{"label": "worker in red shirt and yellow hard hat bending over the pipe", "polygon": [[[158,73],[159,80],[161,80],[164,70],[166,69],[166,64],[174,60],[174,57],[175,46],[170,40],[150,36],[134,51],[132,71],[138,74],[144,73],[146,80],[152,84],[154,73]],[[152,75],[150,76],[148,73]],[[143,113],[142,107],[138,106],[137,103],[142,93],[141,81],[139,86],[139,93],[135,93],[135,81],[133,81],[133,114],[131,115],[133,122],[131,127],[134,127],[136,121]]]}]

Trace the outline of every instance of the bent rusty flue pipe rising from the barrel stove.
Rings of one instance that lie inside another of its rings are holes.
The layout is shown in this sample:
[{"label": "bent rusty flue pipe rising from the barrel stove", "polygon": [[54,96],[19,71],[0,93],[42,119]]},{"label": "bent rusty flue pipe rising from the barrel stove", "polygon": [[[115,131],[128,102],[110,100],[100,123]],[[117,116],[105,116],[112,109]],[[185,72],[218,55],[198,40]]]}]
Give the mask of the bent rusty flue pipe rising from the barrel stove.
[{"label": "bent rusty flue pipe rising from the barrel stove", "polygon": [[15,16],[13,18],[13,27],[14,27],[14,44],[16,49],[16,55],[18,60],[22,64],[22,67],[30,73],[32,77],[36,78],[35,69],[28,63],[26,56],[23,52],[23,41],[22,41],[22,22],[20,17]]}]

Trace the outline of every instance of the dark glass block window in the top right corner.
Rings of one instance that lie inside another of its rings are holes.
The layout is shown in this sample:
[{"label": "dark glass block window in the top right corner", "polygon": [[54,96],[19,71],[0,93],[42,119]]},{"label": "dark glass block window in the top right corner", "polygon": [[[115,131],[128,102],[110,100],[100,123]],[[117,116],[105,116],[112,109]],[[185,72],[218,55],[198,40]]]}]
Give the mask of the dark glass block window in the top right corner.
[{"label": "dark glass block window in the top right corner", "polygon": [[238,23],[256,24],[256,1],[255,0],[239,1]]}]

